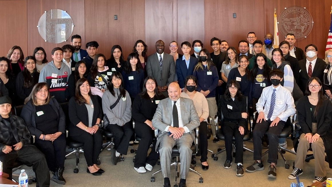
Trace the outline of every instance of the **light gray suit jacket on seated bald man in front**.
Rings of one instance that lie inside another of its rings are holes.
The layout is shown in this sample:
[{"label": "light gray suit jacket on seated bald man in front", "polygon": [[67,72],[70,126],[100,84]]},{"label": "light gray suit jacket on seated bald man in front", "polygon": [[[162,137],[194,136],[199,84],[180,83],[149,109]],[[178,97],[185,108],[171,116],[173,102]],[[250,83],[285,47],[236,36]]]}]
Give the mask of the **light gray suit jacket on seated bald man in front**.
[{"label": "light gray suit jacket on seated bald man in front", "polygon": [[[195,140],[195,128],[200,126],[200,118],[197,115],[193,100],[180,97],[180,105],[182,123],[189,129],[193,140]],[[152,125],[159,130],[156,148],[158,147],[163,135],[168,133],[165,131],[166,127],[172,124],[172,110],[172,100],[170,98],[166,98],[159,102],[156,113],[154,113]]]}]

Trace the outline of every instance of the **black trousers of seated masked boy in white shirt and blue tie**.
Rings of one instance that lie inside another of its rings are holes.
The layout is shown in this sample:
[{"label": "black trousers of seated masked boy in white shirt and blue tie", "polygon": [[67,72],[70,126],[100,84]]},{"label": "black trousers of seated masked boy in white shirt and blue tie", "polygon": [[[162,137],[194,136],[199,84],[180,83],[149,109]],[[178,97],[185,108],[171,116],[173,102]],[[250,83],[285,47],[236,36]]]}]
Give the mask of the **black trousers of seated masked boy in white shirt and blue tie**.
[{"label": "black trousers of seated masked boy in white shirt and blue tie", "polygon": [[284,121],[280,120],[277,126],[270,127],[271,120],[256,123],[255,129],[253,130],[253,142],[254,142],[254,160],[262,160],[262,139],[264,134],[267,132],[269,139],[269,163],[277,163],[278,160],[278,143],[279,135],[281,134],[284,126]]}]

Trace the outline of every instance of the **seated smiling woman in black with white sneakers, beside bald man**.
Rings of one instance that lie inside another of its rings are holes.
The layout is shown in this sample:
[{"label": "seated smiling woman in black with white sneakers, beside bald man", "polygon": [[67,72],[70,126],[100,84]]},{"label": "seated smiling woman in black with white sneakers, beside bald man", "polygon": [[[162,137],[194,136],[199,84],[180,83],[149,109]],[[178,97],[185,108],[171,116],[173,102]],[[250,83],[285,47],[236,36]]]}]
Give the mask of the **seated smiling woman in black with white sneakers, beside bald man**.
[{"label": "seated smiling woman in black with white sneakers, beside bald man", "polygon": [[165,96],[158,92],[157,87],[157,81],[153,77],[146,77],[143,91],[135,97],[132,103],[131,116],[135,120],[135,133],[141,138],[134,164],[134,169],[138,173],[145,173],[145,169],[151,171],[158,160],[158,153],[155,151],[156,142],[153,142],[151,152],[146,157],[154,137],[154,127],[151,121],[159,101],[165,99]]}]

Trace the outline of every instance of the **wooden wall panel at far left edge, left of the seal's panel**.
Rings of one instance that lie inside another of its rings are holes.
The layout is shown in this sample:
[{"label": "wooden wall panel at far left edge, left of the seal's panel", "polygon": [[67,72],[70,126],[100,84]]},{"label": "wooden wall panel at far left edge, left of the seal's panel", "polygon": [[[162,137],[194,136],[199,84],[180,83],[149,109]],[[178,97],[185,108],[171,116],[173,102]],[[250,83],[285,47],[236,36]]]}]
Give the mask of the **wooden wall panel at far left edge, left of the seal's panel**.
[{"label": "wooden wall panel at far left edge, left of the seal's panel", "polygon": [[7,56],[9,49],[20,46],[28,55],[27,0],[0,1],[1,35],[0,56]]}]

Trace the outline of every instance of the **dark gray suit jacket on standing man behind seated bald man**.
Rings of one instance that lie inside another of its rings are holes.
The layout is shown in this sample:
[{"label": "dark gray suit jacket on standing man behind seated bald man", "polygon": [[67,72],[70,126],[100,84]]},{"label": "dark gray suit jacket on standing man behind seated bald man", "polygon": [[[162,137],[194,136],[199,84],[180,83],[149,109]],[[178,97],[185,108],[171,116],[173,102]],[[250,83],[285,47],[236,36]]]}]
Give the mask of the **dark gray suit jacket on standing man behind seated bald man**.
[{"label": "dark gray suit jacket on standing man behind seated bald man", "polygon": [[162,71],[160,72],[159,56],[153,53],[147,57],[146,73],[156,79],[158,86],[168,86],[174,81],[175,63],[172,55],[164,52]]}]

